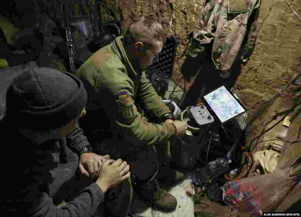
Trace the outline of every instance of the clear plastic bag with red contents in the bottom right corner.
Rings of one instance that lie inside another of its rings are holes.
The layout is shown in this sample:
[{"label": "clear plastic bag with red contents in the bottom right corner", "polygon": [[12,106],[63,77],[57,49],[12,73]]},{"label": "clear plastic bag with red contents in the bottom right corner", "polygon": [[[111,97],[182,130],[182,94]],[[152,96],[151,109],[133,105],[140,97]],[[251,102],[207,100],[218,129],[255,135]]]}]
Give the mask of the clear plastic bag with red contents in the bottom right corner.
[{"label": "clear plastic bag with red contents in the bottom right corner", "polygon": [[301,175],[292,176],[291,171],[292,168],[276,169],[273,173],[227,182],[222,187],[223,201],[249,215],[273,211],[300,181]]}]

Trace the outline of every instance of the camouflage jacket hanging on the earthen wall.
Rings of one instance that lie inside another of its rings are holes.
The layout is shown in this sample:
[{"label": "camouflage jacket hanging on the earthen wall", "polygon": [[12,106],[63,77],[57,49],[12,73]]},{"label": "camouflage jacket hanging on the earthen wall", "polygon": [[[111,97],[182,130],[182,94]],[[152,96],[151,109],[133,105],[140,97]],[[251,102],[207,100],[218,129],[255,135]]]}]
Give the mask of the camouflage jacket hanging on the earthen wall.
[{"label": "camouflage jacket hanging on the earthen wall", "polygon": [[261,0],[206,0],[186,54],[196,57],[213,41],[212,60],[225,77],[230,75],[237,57],[247,64],[259,32],[260,3]]}]

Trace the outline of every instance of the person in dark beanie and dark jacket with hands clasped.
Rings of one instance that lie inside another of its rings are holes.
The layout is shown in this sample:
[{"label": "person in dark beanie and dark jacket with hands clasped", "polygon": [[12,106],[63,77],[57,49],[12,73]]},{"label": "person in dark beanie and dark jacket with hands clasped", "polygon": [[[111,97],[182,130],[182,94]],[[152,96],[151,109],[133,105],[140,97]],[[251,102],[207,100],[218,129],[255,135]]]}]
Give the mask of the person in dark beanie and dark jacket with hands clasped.
[{"label": "person in dark beanie and dark jacket with hands clasped", "polygon": [[14,79],[0,119],[2,208],[22,216],[128,216],[129,165],[92,153],[78,126],[86,103],[70,73],[26,66]]}]

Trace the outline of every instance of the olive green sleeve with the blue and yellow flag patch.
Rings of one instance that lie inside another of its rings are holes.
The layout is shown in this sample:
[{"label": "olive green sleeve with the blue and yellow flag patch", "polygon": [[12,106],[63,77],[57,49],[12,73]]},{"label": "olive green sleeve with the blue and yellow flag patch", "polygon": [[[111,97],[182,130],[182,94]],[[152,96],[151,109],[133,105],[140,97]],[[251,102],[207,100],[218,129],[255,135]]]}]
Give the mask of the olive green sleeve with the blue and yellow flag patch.
[{"label": "olive green sleeve with the blue and yellow flag patch", "polygon": [[[106,73],[99,74],[105,75]],[[154,124],[141,120],[141,114],[133,101],[134,84],[125,72],[110,68],[110,77],[100,76],[98,80],[101,83],[97,85],[99,96],[111,99],[103,102],[104,106],[112,114],[119,134],[128,143],[153,145],[175,134],[171,124]]]}]

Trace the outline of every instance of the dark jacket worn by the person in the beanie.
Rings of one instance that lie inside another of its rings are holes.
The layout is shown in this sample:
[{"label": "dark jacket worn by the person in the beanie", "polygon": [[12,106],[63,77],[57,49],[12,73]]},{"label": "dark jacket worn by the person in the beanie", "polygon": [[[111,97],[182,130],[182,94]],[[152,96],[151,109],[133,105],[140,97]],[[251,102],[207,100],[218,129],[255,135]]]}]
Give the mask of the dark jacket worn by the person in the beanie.
[{"label": "dark jacket worn by the person in the beanie", "polygon": [[[1,158],[4,178],[2,181],[5,182],[2,187],[9,189],[1,194],[2,207],[5,210],[17,212],[22,216],[51,217],[92,216],[95,213],[99,203],[104,200],[104,193],[95,183],[83,189],[78,197],[62,208],[55,206],[51,198],[53,189],[60,188],[52,186],[52,183],[64,183],[71,178],[64,175],[58,177],[58,171],[64,169],[75,174],[79,165],[76,153],[89,145],[82,129],[76,127],[66,137],[67,164],[60,163],[62,147],[58,141],[33,144],[19,134],[7,118],[0,122],[0,130],[2,139],[4,137],[2,141],[6,141],[2,142],[2,145],[6,146]],[[54,182],[57,179],[61,180]]]}]

